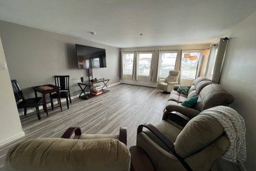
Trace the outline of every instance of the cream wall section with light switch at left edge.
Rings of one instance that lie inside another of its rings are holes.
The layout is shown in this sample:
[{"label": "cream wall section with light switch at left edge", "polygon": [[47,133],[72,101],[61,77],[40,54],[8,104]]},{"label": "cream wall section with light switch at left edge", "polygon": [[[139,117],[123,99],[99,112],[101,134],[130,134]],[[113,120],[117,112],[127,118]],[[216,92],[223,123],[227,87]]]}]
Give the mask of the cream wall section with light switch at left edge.
[{"label": "cream wall section with light switch at left edge", "polygon": [[[1,38],[0,63],[7,66]],[[2,146],[25,135],[19,120],[8,69],[0,70],[0,97],[0,146]]]}]

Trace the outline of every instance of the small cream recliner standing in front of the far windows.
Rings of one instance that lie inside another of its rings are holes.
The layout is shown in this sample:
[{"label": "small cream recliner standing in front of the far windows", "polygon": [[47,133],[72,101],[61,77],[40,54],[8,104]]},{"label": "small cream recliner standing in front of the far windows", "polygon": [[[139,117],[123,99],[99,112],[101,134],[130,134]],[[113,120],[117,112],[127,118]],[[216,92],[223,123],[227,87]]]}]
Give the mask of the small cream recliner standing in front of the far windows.
[{"label": "small cream recliner standing in front of the far windows", "polygon": [[166,79],[159,79],[157,88],[166,92],[172,91],[174,85],[178,84],[179,73],[179,71],[170,70]]}]

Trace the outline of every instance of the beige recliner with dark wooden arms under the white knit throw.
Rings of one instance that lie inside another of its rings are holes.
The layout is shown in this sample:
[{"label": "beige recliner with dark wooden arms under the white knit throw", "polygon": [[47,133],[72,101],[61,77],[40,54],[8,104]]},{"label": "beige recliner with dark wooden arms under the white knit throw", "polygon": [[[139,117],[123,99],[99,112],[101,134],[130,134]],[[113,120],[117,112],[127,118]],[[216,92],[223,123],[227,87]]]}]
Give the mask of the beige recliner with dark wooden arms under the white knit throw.
[{"label": "beige recliner with dark wooden arms under the white knit throw", "polygon": [[131,149],[142,148],[157,171],[208,171],[228,146],[222,125],[214,117],[202,114],[190,120],[183,130],[168,120],[155,126],[148,123],[138,126],[137,144],[130,151],[133,163],[138,154]]}]

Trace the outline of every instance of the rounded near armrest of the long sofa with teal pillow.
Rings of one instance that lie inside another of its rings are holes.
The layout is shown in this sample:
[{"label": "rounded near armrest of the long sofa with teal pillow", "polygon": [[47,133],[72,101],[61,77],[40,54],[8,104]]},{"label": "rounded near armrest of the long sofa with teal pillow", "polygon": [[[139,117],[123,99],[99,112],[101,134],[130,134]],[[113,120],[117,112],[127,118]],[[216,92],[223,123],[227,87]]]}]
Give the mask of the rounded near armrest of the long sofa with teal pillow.
[{"label": "rounded near armrest of the long sofa with teal pillow", "polygon": [[200,113],[198,110],[187,108],[179,104],[168,104],[165,106],[165,109],[167,112],[179,112],[187,116],[189,119],[192,119],[193,117],[197,116]]}]

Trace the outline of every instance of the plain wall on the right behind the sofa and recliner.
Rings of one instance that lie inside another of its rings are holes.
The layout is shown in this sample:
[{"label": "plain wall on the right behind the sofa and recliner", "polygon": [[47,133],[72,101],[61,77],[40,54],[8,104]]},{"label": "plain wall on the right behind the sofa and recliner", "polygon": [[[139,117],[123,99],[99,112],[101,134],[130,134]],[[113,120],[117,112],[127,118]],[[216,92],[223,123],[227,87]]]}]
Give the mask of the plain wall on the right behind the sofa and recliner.
[{"label": "plain wall on the right behind the sofa and recliner", "polygon": [[[246,122],[247,170],[256,169],[256,13],[231,30],[220,84],[234,95],[231,108]],[[227,35],[228,36],[228,35]]]}]

